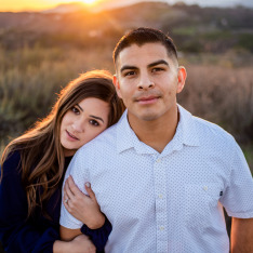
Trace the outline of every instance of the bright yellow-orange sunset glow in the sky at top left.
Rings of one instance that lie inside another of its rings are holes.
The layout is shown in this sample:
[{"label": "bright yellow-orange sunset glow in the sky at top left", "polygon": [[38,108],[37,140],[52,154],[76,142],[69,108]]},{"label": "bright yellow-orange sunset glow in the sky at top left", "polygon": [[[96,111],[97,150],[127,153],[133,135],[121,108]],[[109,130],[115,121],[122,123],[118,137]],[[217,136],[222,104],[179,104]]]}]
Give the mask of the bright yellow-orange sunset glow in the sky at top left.
[{"label": "bright yellow-orange sunset glow in the sky at top left", "polygon": [[41,11],[55,8],[62,3],[82,2],[95,5],[105,0],[0,0],[0,12]]}]

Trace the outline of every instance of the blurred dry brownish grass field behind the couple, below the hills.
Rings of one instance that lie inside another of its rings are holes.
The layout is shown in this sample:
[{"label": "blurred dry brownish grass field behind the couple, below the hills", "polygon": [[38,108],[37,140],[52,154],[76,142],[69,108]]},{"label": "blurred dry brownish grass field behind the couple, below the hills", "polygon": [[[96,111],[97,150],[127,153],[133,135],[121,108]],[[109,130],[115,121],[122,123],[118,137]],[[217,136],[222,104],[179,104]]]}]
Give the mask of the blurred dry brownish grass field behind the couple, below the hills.
[{"label": "blurred dry brownish grass field behind the couple, below the hills", "polygon": [[[105,68],[114,72],[112,46],[96,50],[61,48],[0,49],[0,146],[43,118],[61,88],[79,74]],[[253,56],[241,54],[188,55],[185,90],[178,102],[194,115],[215,122],[231,133],[253,170]],[[239,63],[240,64],[239,64]]]}]

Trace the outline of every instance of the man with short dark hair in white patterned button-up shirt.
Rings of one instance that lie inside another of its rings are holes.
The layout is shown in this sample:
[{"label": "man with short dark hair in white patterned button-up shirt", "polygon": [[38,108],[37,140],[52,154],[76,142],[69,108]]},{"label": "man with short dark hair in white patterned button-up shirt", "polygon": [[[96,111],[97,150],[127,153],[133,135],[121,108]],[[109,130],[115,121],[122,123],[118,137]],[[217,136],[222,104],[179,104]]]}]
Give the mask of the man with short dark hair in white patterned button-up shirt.
[{"label": "man with short dark hair in white patterned button-up shirt", "polygon": [[[114,52],[121,120],[83,146],[67,175],[91,182],[111,222],[106,252],[253,252],[253,181],[228,133],[177,105],[186,69],[159,30],[130,31]],[[82,224],[63,207],[61,224]],[[63,229],[64,234],[67,235]],[[68,230],[68,229],[67,229]]]}]

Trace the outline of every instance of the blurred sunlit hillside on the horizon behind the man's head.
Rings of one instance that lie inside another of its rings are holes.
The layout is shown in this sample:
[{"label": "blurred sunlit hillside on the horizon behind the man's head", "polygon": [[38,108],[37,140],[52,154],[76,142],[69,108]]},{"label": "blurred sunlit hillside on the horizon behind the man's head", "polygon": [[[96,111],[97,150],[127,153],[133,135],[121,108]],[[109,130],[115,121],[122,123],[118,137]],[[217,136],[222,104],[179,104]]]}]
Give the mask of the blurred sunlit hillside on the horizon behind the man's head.
[{"label": "blurred sunlit hillside on the horizon behind the man's head", "polygon": [[[4,49],[78,46],[115,43],[133,27],[169,32],[185,52],[253,52],[253,10],[141,2],[98,13],[0,13],[0,44]],[[103,39],[102,39],[103,38]]]}]

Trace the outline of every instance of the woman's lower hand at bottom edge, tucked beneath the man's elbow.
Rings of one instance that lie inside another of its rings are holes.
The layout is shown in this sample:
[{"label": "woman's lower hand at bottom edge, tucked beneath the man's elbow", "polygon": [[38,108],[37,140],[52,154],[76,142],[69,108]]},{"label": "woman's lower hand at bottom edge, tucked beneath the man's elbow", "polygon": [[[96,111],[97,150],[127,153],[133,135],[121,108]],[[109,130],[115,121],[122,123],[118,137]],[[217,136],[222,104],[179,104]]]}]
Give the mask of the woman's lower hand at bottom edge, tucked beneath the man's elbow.
[{"label": "woman's lower hand at bottom edge, tucked beneath the man's elbow", "polygon": [[71,241],[55,241],[53,244],[54,253],[95,253],[96,248],[84,235],[77,236]]}]

